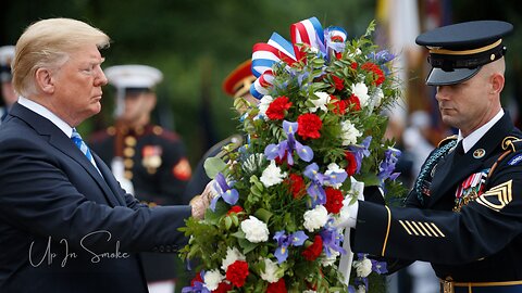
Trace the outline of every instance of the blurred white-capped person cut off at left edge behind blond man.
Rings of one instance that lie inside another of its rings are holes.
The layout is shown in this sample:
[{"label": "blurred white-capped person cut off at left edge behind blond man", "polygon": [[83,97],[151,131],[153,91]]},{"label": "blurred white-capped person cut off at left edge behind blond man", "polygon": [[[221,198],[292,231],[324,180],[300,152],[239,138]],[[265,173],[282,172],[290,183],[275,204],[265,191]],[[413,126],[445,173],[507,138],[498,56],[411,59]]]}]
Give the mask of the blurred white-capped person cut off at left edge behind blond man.
[{"label": "blurred white-capped person cut off at left edge behind blond man", "polygon": [[18,99],[14,92],[11,74],[11,62],[14,58],[14,46],[0,47],[0,82],[2,84],[3,105],[0,107],[0,124],[8,115],[9,109]]}]

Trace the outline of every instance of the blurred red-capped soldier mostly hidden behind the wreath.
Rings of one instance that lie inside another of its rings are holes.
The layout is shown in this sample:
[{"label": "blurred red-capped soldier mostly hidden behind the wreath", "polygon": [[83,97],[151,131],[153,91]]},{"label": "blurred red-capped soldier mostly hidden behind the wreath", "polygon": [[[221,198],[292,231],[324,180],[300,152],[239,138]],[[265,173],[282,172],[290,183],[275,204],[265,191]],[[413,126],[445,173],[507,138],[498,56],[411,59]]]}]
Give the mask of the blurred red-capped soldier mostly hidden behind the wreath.
[{"label": "blurred red-capped soldier mostly hidden behind the wreath", "polygon": [[[258,103],[258,100],[250,94],[250,85],[256,80],[256,77],[252,75],[251,65],[251,60],[247,60],[228,74],[223,81],[223,91],[227,95],[233,99],[243,98],[251,103]],[[214,156],[225,157],[227,153],[222,149],[224,145],[233,144],[238,148],[241,143],[241,136],[233,135],[208,150],[199,161],[196,170],[194,171],[194,176],[185,190],[184,198],[189,201],[195,195],[201,194],[207,183],[210,182],[210,178],[207,176],[203,167],[207,158]]]}]

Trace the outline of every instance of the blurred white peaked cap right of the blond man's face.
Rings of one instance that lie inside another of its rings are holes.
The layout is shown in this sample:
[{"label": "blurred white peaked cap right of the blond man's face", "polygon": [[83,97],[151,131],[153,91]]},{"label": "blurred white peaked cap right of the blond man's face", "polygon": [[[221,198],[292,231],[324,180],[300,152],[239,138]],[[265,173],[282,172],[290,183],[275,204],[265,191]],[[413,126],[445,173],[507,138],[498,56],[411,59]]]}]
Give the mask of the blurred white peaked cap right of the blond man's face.
[{"label": "blurred white peaked cap right of the blond man's face", "polygon": [[163,74],[147,65],[117,65],[105,68],[109,84],[116,88],[152,88],[163,79]]}]

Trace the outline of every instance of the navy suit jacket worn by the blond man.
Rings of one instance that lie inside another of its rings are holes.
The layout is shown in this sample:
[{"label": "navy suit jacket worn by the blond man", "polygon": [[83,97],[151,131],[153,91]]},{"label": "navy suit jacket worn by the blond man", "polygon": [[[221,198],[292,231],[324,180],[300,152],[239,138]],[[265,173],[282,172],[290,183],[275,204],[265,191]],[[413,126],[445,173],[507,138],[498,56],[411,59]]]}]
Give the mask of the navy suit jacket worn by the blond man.
[{"label": "navy suit jacket worn by the blond man", "polygon": [[0,292],[147,292],[138,252],[172,252],[189,206],[148,208],[50,120],[0,126]]}]

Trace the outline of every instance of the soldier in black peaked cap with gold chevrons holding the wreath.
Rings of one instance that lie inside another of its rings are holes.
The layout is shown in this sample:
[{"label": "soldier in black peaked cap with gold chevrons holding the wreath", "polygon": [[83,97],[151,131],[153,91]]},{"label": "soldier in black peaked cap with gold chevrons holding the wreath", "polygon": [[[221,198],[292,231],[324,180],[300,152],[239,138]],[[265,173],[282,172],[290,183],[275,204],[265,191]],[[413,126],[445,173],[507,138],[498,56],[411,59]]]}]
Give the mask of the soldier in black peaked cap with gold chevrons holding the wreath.
[{"label": "soldier in black peaked cap with gold chevrons holding the wreath", "polygon": [[[366,196],[341,222],[353,251],[384,257],[390,270],[432,264],[440,292],[522,292],[522,132],[501,107],[512,25],[455,24],[424,33],[426,84],[437,87],[443,140],[421,167],[406,207]],[[366,194],[365,194],[366,195]]]}]

